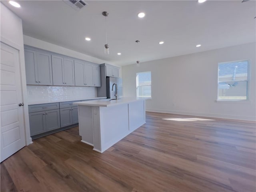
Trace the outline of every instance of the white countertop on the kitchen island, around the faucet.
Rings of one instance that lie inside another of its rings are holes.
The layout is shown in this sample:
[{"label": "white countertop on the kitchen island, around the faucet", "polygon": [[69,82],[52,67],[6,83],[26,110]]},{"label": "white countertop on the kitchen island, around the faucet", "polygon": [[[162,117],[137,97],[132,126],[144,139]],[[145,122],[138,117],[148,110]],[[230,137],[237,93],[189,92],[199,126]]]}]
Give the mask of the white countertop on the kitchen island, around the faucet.
[{"label": "white countertop on the kitchen island, around the faucet", "polygon": [[98,107],[110,107],[130,102],[135,102],[138,100],[145,100],[145,99],[137,99],[137,98],[130,98],[130,97],[123,97],[118,100],[93,100],[93,101],[83,101],[83,102],[74,102],[74,104],[78,105],[85,105],[85,106],[98,106]]}]

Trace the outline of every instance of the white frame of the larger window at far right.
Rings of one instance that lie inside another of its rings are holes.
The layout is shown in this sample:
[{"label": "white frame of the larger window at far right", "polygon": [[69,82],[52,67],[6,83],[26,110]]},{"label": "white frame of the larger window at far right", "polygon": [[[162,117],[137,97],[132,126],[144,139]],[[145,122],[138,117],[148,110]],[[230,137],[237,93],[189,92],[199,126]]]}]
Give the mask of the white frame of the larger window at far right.
[{"label": "white frame of the larger window at far right", "polygon": [[[247,88],[246,88],[246,99],[219,99],[219,65],[220,64],[228,64],[228,63],[235,63],[235,62],[247,62],[247,80],[236,80],[236,81],[240,81],[240,82],[247,82]],[[219,62],[218,63],[218,78],[217,78],[217,100],[216,102],[248,102],[249,100],[249,95],[250,95],[250,59],[244,59],[244,60],[235,60],[235,61],[228,61],[228,62]]]}]

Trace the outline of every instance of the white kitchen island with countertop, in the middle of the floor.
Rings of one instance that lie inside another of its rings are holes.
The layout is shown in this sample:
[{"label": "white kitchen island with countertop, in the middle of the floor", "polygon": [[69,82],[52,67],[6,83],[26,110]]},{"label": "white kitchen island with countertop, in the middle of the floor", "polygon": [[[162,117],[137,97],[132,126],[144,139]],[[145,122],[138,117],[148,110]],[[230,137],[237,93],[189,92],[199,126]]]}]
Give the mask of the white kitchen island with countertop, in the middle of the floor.
[{"label": "white kitchen island with countertop, in the middle of the floor", "polygon": [[82,142],[104,152],[145,123],[145,100],[122,98],[75,102]]}]

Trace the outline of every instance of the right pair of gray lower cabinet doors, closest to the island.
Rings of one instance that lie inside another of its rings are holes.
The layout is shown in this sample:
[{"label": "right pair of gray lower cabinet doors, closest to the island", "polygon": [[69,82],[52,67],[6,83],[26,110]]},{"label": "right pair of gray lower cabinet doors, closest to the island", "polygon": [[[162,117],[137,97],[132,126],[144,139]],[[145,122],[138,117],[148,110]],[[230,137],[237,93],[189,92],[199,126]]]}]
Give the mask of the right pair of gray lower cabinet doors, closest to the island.
[{"label": "right pair of gray lower cabinet doors, closest to the island", "polygon": [[66,127],[78,123],[78,107],[60,109],[60,125]]}]

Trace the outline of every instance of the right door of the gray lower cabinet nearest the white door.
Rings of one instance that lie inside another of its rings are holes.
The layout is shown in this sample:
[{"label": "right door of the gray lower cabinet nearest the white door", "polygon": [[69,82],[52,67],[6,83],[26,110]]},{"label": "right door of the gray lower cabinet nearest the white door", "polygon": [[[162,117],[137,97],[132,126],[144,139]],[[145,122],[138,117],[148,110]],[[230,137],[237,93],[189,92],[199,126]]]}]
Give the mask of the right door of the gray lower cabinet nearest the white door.
[{"label": "right door of the gray lower cabinet nearest the white door", "polygon": [[60,110],[48,110],[45,112],[46,130],[51,131],[60,128]]}]

